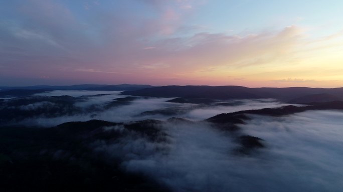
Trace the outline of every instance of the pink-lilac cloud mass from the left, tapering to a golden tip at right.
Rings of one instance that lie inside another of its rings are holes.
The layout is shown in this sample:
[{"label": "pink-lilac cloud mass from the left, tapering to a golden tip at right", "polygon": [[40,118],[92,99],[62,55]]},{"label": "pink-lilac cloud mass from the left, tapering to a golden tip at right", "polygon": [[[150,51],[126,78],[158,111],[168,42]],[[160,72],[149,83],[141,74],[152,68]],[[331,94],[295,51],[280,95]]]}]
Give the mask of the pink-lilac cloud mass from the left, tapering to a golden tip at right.
[{"label": "pink-lilac cloud mass from the left, tapering to a golden tip at right", "polygon": [[[23,5],[21,14],[31,25],[9,27],[11,44],[2,39],[4,44],[23,50],[7,54],[6,63],[0,64],[7,67],[8,74],[28,77],[44,74],[51,79],[195,82],[200,77],[193,73],[199,71],[204,74],[222,66],[259,65],[289,56],[301,38],[297,26],[244,36],[202,32],[203,28],[185,25],[192,12],[182,7],[193,6],[194,1],[149,2],[159,6],[151,17],[125,11],[132,8],[128,4],[121,12],[92,6],[92,11],[84,13],[88,19],[80,20],[66,5],[30,1]],[[190,34],[177,35],[187,27],[192,28]],[[22,37],[13,30],[22,31]]]}]

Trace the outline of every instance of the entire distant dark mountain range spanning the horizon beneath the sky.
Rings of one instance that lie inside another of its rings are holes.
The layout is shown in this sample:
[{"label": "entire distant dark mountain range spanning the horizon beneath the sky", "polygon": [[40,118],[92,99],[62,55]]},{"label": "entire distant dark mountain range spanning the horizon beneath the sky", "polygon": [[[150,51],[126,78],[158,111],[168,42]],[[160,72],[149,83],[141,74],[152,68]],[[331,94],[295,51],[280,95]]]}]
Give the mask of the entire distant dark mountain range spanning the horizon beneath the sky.
[{"label": "entire distant dark mountain range spanning the horizon beneath the sky", "polygon": [[275,98],[289,103],[329,102],[343,100],[343,87],[309,88],[309,87],[261,87],[244,86],[207,86],[207,85],[168,85],[152,86],[141,84],[77,84],[69,86],[3,86],[0,97],[29,96],[52,90],[123,90],[121,94],[152,97],[178,97],[170,100],[180,103],[209,103],[225,99]]}]

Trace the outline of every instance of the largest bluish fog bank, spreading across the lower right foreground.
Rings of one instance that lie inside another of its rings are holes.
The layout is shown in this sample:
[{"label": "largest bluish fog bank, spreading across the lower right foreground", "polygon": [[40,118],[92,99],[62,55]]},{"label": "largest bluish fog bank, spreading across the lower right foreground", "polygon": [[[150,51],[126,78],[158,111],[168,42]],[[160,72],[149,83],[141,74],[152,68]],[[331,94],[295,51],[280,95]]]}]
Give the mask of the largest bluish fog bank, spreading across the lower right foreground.
[{"label": "largest bluish fog bank, spreading across the lower right foreground", "polygon": [[173,191],[341,191],[342,111],[251,117],[237,134],[258,136],[266,148],[250,155],[235,155],[232,133],[203,122],[164,123],[166,144],[127,139],[97,149],[123,150],[123,168]]}]

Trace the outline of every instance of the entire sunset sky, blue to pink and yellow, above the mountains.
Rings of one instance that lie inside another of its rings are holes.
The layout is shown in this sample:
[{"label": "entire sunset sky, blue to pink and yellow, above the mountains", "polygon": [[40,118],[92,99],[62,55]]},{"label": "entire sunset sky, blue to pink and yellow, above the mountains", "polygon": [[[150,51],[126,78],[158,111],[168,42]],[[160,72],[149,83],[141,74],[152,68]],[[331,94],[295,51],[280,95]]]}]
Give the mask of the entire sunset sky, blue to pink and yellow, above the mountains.
[{"label": "entire sunset sky, blue to pink and yellow, above the mountains", "polygon": [[0,85],[342,87],[341,0],[0,0]]}]

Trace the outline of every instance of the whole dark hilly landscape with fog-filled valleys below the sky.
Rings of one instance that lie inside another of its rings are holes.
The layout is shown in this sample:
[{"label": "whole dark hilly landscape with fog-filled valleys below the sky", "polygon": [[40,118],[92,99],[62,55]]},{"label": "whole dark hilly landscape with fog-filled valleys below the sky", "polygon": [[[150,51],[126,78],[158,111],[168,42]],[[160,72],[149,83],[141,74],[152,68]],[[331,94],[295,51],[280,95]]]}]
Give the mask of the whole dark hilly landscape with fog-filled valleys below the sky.
[{"label": "whole dark hilly landscape with fog-filled valleys below the sky", "polygon": [[222,97],[208,90],[212,87],[196,87],[200,93],[173,90],[165,97],[154,95],[155,88],[132,95],[50,90],[0,100],[5,191],[339,191],[343,186],[343,101],[323,102],[325,89],[306,103],[308,91],[295,94],[289,98],[300,97],[295,104],[280,97],[245,98],[251,93],[228,87],[213,87],[232,95]]}]

